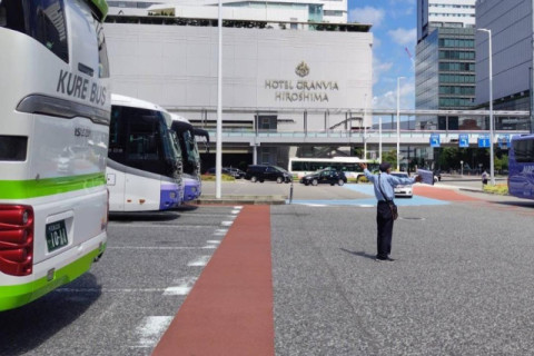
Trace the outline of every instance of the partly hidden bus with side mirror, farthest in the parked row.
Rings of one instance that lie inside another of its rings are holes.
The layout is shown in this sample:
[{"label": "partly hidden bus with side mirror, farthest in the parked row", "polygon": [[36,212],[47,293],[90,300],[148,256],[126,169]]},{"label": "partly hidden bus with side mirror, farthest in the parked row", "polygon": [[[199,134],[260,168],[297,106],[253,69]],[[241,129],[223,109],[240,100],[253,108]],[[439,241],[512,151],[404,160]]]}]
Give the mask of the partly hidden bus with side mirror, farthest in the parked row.
[{"label": "partly hidden bus with side mirror, farthest in the parked row", "polygon": [[202,194],[202,181],[200,178],[200,154],[198,151],[197,136],[206,138],[209,144],[208,131],[195,129],[188,119],[171,113],[171,129],[180,146],[184,167],[184,201],[197,199]]}]

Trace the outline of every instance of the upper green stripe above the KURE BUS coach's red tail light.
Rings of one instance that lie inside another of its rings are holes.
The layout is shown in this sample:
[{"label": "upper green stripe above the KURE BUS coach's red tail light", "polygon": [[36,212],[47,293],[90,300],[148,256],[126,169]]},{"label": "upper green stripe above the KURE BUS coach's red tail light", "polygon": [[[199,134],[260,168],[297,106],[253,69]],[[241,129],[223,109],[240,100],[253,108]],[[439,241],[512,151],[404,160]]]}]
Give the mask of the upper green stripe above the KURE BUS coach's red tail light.
[{"label": "upper green stripe above the KURE BUS coach's red tail light", "polygon": [[0,199],[46,197],[106,185],[102,172],[31,180],[0,180]]}]

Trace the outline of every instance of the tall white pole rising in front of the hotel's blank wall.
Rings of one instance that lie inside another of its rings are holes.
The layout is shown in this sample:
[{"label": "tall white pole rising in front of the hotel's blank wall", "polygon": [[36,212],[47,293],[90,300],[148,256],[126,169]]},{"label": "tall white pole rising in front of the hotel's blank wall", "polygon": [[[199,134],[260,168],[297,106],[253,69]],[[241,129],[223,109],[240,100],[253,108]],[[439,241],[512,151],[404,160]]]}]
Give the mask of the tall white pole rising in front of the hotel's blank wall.
[{"label": "tall white pole rising in front of the hotel's blank wall", "polygon": [[221,197],[222,178],[222,3],[219,0],[219,52],[217,73],[217,148],[215,155],[215,198]]}]

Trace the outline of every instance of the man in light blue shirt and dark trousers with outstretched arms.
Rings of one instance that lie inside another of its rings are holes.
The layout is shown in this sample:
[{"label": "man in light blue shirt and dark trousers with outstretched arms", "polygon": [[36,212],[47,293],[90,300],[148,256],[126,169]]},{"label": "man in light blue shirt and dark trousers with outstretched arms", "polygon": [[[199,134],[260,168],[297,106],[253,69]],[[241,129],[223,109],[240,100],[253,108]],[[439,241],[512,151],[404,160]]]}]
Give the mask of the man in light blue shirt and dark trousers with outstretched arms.
[{"label": "man in light blue shirt and dark trousers with outstretched arms", "polygon": [[388,260],[393,261],[394,259],[389,257],[392,253],[392,234],[393,234],[393,212],[389,204],[394,204],[396,186],[403,185],[413,185],[422,180],[419,176],[415,178],[399,178],[389,175],[392,171],[392,165],[388,162],[383,162],[379,166],[380,174],[373,175],[367,169],[366,164],[359,165],[364,169],[365,177],[373,182],[375,186],[375,197],[378,200],[378,206],[376,209],[376,225],[377,225],[377,254],[376,260]]}]

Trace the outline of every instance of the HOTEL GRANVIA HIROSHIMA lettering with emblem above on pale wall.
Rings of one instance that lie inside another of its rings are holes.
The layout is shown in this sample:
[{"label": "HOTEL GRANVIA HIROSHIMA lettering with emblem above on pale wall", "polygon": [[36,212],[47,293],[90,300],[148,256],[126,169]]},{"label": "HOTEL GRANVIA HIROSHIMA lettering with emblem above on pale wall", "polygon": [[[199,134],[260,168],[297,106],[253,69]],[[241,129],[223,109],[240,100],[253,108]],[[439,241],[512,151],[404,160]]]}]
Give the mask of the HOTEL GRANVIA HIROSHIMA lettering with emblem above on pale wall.
[{"label": "HOTEL GRANVIA HIROSHIMA lettering with emblem above on pale wall", "polygon": [[303,79],[266,79],[264,88],[274,90],[275,101],[328,102],[328,93],[339,91],[337,81],[304,79],[309,72],[308,65],[301,61],[295,68],[295,73]]}]

